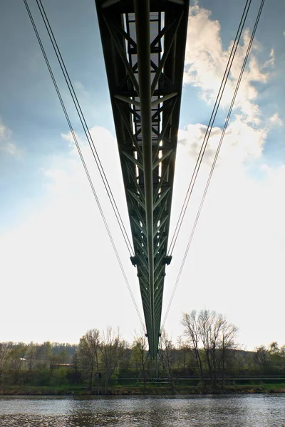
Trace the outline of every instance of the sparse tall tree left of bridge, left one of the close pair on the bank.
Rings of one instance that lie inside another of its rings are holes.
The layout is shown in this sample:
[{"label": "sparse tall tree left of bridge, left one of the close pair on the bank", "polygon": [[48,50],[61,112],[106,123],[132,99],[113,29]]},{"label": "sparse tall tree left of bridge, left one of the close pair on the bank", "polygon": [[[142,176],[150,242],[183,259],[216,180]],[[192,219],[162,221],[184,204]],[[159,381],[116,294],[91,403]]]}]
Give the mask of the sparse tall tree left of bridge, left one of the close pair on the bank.
[{"label": "sparse tall tree left of bridge, left one of the close pair on the bank", "polygon": [[89,330],[81,337],[78,345],[78,360],[83,371],[89,378],[90,390],[93,386],[93,376],[96,372],[97,389],[99,394],[99,351],[101,348],[100,332],[97,329]]}]

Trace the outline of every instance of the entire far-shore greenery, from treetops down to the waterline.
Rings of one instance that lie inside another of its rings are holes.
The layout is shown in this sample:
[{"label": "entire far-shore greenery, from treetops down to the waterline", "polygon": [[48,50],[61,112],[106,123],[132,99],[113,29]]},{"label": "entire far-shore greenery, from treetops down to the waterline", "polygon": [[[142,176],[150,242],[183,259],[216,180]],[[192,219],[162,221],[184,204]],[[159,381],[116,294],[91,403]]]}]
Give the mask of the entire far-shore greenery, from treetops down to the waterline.
[{"label": "entire far-shore greenery, from treetops down to the waterline", "polygon": [[89,330],[78,344],[0,342],[0,395],[107,396],[285,393],[285,345],[250,352],[214,311],[182,316],[173,342],[161,331],[152,358],[145,333]]}]

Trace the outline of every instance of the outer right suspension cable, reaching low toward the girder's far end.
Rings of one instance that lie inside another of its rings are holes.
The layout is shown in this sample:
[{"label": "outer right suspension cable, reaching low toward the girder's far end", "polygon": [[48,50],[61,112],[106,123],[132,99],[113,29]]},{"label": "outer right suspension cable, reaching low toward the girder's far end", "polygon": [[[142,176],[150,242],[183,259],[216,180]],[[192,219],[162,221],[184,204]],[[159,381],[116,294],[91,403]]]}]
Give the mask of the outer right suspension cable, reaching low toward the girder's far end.
[{"label": "outer right suspension cable, reaching low toward the girder's far end", "polygon": [[180,276],[181,276],[181,273],[182,273],[183,267],[184,267],[184,265],[185,265],[185,260],[186,260],[186,258],[187,258],[187,254],[188,254],[188,251],[189,251],[189,248],[190,248],[190,245],[191,245],[191,243],[192,243],[192,239],[193,239],[193,236],[194,236],[194,233],[195,233],[195,230],[196,230],[197,222],[198,222],[198,220],[199,220],[199,216],[200,216],[201,211],[202,211],[202,206],[203,206],[203,204],[204,204],[204,199],[205,199],[205,197],[206,197],[206,195],[207,195],[207,191],[208,191],[208,188],[209,188],[209,184],[210,184],[210,181],[211,181],[211,179],[212,179],[212,174],[213,174],[213,172],[214,172],[214,167],[215,167],[215,165],[216,165],[216,163],[217,163],[217,158],[218,158],[218,156],[219,156],[219,150],[221,149],[222,142],[223,142],[223,139],[224,139],[224,134],[225,134],[225,132],[226,132],[226,130],[227,130],[227,126],[228,126],[228,124],[229,124],[229,118],[230,118],[230,116],[231,116],[231,114],[232,114],[232,108],[234,107],[234,101],[235,101],[235,99],[236,99],[236,97],[237,97],[237,92],[238,92],[238,90],[239,90],[239,85],[240,85],[240,82],[241,82],[241,80],[242,80],[242,75],[244,74],[244,68],[245,68],[245,66],[247,65],[247,59],[249,58],[249,52],[250,52],[250,50],[251,50],[251,48],[252,48],[252,43],[253,43],[253,41],[254,41],[255,32],[257,31],[257,26],[258,26],[258,23],[259,23],[259,18],[260,18],[260,16],[261,16],[261,11],[262,11],[263,6],[264,6],[264,1],[265,1],[265,0],[261,0],[261,4],[260,4],[260,6],[259,6],[259,11],[258,11],[258,14],[257,14],[257,19],[256,19],[256,21],[255,21],[255,23],[254,23],[254,29],[253,29],[253,31],[252,31],[252,36],[251,36],[250,41],[249,41],[249,46],[247,47],[247,53],[246,53],[246,56],[244,57],[244,62],[243,62],[243,64],[242,64],[242,69],[241,69],[241,71],[240,71],[240,73],[239,73],[239,78],[238,78],[238,80],[237,80],[237,85],[236,85],[236,88],[235,88],[235,90],[234,90],[234,95],[233,95],[233,97],[232,97],[232,102],[231,102],[231,105],[230,105],[230,107],[229,107],[229,112],[227,113],[227,118],[226,118],[226,120],[225,120],[225,122],[224,122],[224,127],[223,127],[223,130],[222,130],[222,135],[221,135],[221,137],[220,137],[220,139],[219,139],[219,144],[218,144],[218,147],[217,147],[217,151],[216,151],[216,154],[215,154],[215,156],[214,156],[214,161],[213,161],[213,164],[212,164],[212,168],[211,168],[211,170],[210,170],[210,172],[209,172],[209,176],[208,176],[208,179],[207,179],[207,184],[206,184],[205,189],[204,189],[204,193],[203,193],[203,196],[202,196],[201,203],[199,204],[199,209],[198,209],[198,212],[197,212],[197,216],[196,216],[196,218],[195,218],[195,223],[194,223],[194,226],[193,226],[193,228],[192,228],[192,232],[191,232],[191,234],[190,234],[190,239],[189,239],[189,241],[188,241],[187,248],[186,248],[186,250],[185,250],[185,255],[184,255],[183,260],[182,260],[182,263],[181,263],[181,265],[180,265],[180,270],[179,270],[179,273],[178,273],[178,275],[177,275],[177,279],[176,279],[176,282],[175,282],[175,287],[174,287],[174,289],[173,289],[173,291],[172,291],[172,295],[171,295],[171,297],[170,297],[170,302],[168,303],[167,310],[166,310],[166,312],[165,312],[165,317],[164,317],[164,320],[163,320],[163,323],[162,323],[162,328],[165,326],[165,322],[166,322],[166,320],[167,320],[167,315],[168,315],[168,313],[169,313],[169,311],[170,311],[170,307],[171,307],[171,304],[172,304],[172,300],[173,300],[173,298],[174,298],[175,291],[177,290],[177,285],[178,285],[178,283],[179,283]]}]

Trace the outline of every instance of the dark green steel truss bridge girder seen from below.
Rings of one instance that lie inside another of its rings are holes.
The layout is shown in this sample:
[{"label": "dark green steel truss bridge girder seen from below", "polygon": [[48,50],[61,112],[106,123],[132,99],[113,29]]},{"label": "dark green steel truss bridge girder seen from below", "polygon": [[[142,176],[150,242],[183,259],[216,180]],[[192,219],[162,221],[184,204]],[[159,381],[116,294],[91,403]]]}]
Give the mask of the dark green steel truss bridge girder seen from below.
[{"label": "dark green steel truss bridge girder seen from below", "polygon": [[150,354],[160,336],[188,0],[95,0]]}]

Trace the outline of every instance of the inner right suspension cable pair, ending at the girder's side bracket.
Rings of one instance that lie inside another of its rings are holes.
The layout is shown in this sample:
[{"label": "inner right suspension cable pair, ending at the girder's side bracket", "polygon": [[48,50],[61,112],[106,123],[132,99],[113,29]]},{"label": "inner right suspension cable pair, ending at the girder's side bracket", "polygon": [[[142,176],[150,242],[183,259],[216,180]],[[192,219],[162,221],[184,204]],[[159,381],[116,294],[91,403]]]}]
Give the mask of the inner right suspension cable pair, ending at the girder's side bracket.
[{"label": "inner right suspension cable pair, ending at the girder's side bracket", "polygon": [[225,86],[227,84],[227,80],[229,78],[229,73],[230,73],[230,70],[232,68],[232,63],[234,61],[234,56],[235,56],[235,54],[237,52],[237,47],[239,46],[239,40],[240,40],[240,38],[242,36],[242,31],[244,29],[244,23],[245,23],[245,21],[247,19],[247,14],[249,13],[249,8],[250,8],[251,3],[252,3],[252,0],[247,0],[246,1],[246,4],[244,6],[244,11],[242,13],[242,18],[239,21],[239,27],[237,28],[237,33],[236,33],[236,36],[234,38],[234,43],[232,45],[232,50],[231,50],[231,53],[229,55],[229,59],[227,61],[227,67],[224,70],[224,75],[223,75],[223,78],[222,78],[222,83],[219,86],[219,92],[218,92],[216,100],[214,102],[214,107],[213,107],[213,110],[212,110],[212,114],[211,114],[211,117],[209,119],[209,123],[207,125],[207,131],[206,131],[206,133],[204,135],[202,146],[200,148],[199,155],[197,157],[197,161],[196,161],[196,164],[195,164],[195,168],[194,168],[194,171],[193,171],[191,179],[190,179],[190,184],[189,184],[188,189],[187,189],[187,194],[185,196],[185,200],[183,202],[182,209],[180,211],[180,216],[179,216],[177,224],[175,226],[175,231],[173,233],[172,240],[170,242],[170,247],[168,249],[168,255],[172,255],[173,249],[175,247],[175,243],[177,241],[178,234],[180,232],[180,228],[182,226],[183,219],[185,217],[185,212],[187,211],[187,206],[189,204],[190,197],[192,195],[192,191],[193,191],[196,179],[197,179],[197,174],[199,172],[199,168],[201,166],[202,159],[204,157],[204,152],[205,152],[205,150],[207,148],[207,143],[209,141],[209,136],[211,135],[211,132],[212,132],[212,127],[214,125],[214,120],[216,118],[217,111],[219,109],[219,104],[220,104],[220,102],[222,100],[222,95],[224,93],[224,88],[225,88]]}]

